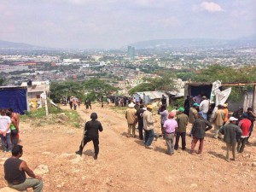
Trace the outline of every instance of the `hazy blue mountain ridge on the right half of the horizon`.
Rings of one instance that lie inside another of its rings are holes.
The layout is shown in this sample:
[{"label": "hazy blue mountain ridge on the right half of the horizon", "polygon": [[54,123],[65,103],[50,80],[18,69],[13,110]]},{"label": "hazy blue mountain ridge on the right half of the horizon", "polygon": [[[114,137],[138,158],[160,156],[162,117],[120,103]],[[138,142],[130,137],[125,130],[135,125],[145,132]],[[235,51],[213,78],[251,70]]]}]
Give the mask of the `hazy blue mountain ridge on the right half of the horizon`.
[{"label": "hazy blue mountain ridge on the right half of the horizon", "polygon": [[130,46],[135,49],[189,49],[189,48],[224,48],[224,47],[256,47],[256,36],[234,40],[210,38],[156,39],[142,41]]}]

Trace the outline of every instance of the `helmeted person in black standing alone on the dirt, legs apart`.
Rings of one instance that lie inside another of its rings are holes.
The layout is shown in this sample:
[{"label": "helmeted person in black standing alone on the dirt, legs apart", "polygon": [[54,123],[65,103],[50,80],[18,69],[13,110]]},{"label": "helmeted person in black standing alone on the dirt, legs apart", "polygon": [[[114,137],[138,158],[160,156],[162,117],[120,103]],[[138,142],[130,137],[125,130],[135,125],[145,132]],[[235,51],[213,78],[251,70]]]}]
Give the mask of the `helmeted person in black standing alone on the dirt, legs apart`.
[{"label": "helmeted person in black standing alone on the dirt, legs apart", "polygon": [[79,150],[76,154],[82,155],[84,146],[86,143],[92,141],[94,146],[94,159],[97,160],[99,154],[99,131],[103,131],[102,124],[98,121],[97,113],[90,114],[90,121],[87,121],[84,125],[84,139],[82,140]]}]

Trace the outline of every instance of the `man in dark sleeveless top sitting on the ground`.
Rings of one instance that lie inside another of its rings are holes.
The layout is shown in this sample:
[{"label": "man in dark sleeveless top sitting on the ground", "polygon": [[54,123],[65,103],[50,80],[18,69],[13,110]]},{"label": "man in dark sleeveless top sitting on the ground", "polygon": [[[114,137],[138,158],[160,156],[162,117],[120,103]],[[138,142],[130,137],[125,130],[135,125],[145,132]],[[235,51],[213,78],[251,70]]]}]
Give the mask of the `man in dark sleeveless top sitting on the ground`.
[{"label": "man in dark sleeveless top sitting on the ground", "polygon": [[[42,177],[35,175],[34,172],[26,165],[26,161],[20,160],[23,154],[23,147],[15,145],[12,149],[12,157],[5,160],[4,178],[9,188],[16,190],[26,190],[32,188],[34,192],[41,192],[43,189]],[[26,178],[26,174],[32,178]]]}]

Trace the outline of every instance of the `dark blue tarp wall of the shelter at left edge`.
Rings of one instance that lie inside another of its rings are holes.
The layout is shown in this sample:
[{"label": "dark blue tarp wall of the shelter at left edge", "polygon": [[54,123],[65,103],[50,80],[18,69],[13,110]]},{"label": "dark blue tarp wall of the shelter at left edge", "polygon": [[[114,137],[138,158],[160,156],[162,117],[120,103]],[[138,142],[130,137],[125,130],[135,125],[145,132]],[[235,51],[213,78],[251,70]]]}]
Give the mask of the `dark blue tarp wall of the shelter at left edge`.
[{"label": "dark blue tarp wall of the shelter at left edge", "polygon": [[0,108],[13,108],[15,113],[24,114],[27,110],[26,88],[0,88]]}]

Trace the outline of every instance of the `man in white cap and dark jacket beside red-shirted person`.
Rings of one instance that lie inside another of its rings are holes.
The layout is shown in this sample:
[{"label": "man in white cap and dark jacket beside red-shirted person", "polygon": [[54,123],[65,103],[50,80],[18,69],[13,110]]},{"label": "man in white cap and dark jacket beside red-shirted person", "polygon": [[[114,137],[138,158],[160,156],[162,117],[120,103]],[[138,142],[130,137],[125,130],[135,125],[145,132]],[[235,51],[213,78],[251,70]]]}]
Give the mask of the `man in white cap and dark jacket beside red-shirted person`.
[{"label": "man in white cap and dark jacket beside red-shirted person", "polygon": [[241,129],[236,125],[236,118],[230,117],[230,123],[225,124],[219,130],[224,135],[224,143],[226,143],[227,153],[226,160],[230,161],[230,150],[233,154],[233,160],[236,160],[236,143],[237,137],[241,136]]}]

